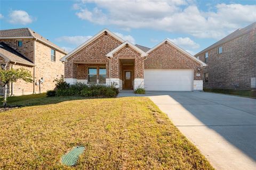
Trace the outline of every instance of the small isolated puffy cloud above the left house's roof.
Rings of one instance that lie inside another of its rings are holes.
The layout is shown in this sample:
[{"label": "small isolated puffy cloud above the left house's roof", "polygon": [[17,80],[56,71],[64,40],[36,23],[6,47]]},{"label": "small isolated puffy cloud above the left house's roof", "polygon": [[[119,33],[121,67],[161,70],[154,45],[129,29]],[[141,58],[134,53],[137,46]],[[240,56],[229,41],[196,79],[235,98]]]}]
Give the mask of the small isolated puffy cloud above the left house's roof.
[{"label": "small isolated puffy cloud above the left house's roof", "polygon": [[22,10],[14,10],[9,14],[10,20],[9,22],[12,24],[22,24],[26,25],[33,22],[33,17],[30,16],[26,11]]}]

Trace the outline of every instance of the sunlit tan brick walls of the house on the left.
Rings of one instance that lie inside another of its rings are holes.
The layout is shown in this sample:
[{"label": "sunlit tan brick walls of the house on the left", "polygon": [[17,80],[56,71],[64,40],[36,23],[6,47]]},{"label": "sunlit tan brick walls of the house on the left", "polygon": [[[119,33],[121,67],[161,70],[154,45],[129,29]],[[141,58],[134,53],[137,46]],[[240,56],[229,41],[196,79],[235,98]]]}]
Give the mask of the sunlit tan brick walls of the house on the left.
[{"label": "sunlit tan brick walls of the house on the left", "polygon": [[[17,47],[17,40],[22,40],[22,46]],[[44,82],[41,84],[41,92],[47,90],[53,90],[55,88],[54,79],[61,78],[64,75],[64,64],[60,61],[60,58],[65,54],[59,50],[55,50],[55,62],[51,61],[51,47],[45,45],[35,39],[1,39],[5,44],[9,45],[17,52],[26,56],[30,61],[33,61],[35,66],[35,82],[43,78]],[[34,44],[35,44],[35,57],[34,57]],[[1,61],[1,60],[0,60]],[[15,64],[12,65],[14,69],[23,67],[31,72],[34,77],[34,68],[26,65]],[[26,83],[22,80],[18,80],[9,86],[9,90],[13,89],[13,95],[27,95],[33,94],[34,83]],[[0,89],[0,92],[3,89]],[[38,83],[35,85],[35,93],[39,92]]]}]

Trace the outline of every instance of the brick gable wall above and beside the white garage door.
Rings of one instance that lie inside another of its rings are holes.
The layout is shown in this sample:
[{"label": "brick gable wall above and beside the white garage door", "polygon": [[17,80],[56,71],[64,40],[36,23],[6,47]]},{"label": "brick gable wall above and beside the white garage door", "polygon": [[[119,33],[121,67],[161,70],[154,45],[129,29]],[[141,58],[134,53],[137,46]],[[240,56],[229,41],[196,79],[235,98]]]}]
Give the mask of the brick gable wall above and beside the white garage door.
[{"label": "brick gable wall above and beside the white garage door", "polygon": [[145,69],[193,69],[194,80],[203,78],[201,65],[169,43],[160,45],[148,54]]}]

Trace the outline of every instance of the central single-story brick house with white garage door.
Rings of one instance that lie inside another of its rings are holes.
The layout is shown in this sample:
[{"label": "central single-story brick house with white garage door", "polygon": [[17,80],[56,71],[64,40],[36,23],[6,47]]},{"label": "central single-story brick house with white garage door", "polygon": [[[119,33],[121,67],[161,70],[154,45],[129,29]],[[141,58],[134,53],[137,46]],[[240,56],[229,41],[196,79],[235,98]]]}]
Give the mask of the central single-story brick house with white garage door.
[{"label": "central single-story brick house with white garage door", "polygon": [[205,63],[169,39],[149,49],[103,29],[61,58],[65,81],[115,84],[119,89],[193,91],[203,89]]}]

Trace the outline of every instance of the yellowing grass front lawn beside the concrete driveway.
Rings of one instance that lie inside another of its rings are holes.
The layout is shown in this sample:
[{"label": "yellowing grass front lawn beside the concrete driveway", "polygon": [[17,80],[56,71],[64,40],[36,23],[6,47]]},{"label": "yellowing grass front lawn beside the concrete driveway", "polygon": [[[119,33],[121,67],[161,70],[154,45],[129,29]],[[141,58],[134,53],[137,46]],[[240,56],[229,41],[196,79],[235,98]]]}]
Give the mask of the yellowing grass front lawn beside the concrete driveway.
[{"label": "yellowing grass front lawn beside the concrete driveway", "polygon": [[0,169],[213,169],[148,98],[67,99],[0,113]]}]

